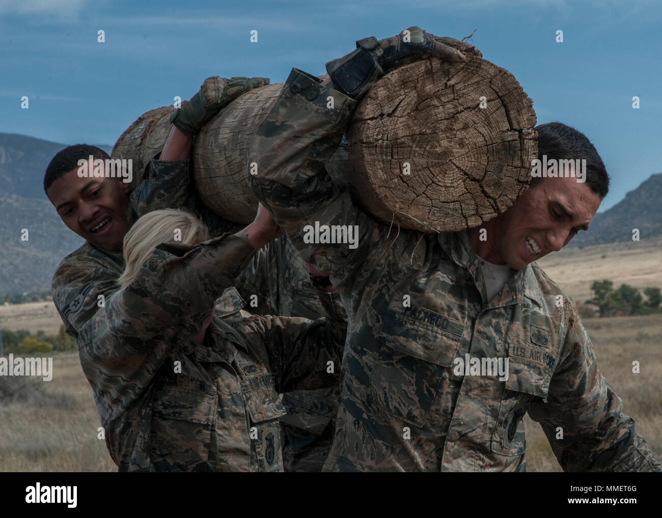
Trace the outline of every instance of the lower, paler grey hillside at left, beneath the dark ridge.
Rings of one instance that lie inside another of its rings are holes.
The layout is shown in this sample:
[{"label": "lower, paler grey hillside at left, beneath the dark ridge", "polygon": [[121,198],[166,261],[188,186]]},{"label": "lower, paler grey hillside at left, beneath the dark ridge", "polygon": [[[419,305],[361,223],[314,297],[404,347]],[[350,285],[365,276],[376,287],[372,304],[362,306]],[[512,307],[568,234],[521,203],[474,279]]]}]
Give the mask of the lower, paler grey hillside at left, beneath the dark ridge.
[{"label": "lower, paler grey hillside at left, beneath the dark ridge", "polygon": [[[65,255],[83,239],[64,226],[48,200],[0,193],[0,295],[50,289]],[[21,229],[28,241],[21,241]]]}]

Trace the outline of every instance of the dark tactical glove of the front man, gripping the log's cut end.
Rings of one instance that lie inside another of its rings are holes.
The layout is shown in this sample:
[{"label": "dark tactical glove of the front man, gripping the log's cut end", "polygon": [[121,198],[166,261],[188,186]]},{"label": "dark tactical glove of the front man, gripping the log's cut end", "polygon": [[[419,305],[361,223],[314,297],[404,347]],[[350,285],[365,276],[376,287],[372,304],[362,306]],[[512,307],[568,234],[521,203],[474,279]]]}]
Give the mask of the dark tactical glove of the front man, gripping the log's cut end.
[{"label": "dark tactical glove of the front man, gripping the log's cut end", "polygon": [[363,38],[356,42],[354,52],[328,62],[326,71],[336,89],[352,99],[360,99],[385,73],[424,56],[465,60],[459,50],[434,38],[416,26],[384,40],[377,41],[375,36]]}]

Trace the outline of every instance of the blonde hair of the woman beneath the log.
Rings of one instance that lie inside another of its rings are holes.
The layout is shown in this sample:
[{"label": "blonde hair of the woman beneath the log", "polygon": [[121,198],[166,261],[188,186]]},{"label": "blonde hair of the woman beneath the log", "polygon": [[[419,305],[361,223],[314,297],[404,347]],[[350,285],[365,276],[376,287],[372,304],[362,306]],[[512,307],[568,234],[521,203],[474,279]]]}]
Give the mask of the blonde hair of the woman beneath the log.
[{"label": "blonde hair of the woman beneath the log", "polygon": [[197,245],[207,239],[207,226],[189,212],[173,208],[148,212],[138,218],[124,236],[126,268],[118,279],[120,287],[124,288],[135,279],[140,267],[160,243],[175,241],[183,245]]}]

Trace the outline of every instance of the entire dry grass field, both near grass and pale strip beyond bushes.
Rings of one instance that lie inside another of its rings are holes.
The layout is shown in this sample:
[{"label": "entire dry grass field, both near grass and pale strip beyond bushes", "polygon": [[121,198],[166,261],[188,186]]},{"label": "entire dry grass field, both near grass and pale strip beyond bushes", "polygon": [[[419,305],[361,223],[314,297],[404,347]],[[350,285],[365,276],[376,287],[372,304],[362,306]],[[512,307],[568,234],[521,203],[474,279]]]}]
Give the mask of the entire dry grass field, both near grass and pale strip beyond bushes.
[{"label": "entire dry grass field, both near grass and pale strip beyond bushes", "polygon": [[[540,265],[573,300],[591,296],[593,280],[662,288],[662,240],[561,251]],[[606,257],[602,258],[602,255]],[[46,306],[44,308],[44,306]],[[6,329],[56,333],[51,303],[0,306]],[[624,401],[653,454],[662,458],[662,314],[584,320],[602,374]],[[632,373],[632,361],[641,365]],[[5,396],[2,396],[2,394]],[[9,392],[12,394],[7,395]],[[540,425],[525,417],[528,461],[535,471],[560,471]],[[97,439],[99,417],[77,353],[53,354],[53,380],[0,378],[0,471],[115,471]]]}]

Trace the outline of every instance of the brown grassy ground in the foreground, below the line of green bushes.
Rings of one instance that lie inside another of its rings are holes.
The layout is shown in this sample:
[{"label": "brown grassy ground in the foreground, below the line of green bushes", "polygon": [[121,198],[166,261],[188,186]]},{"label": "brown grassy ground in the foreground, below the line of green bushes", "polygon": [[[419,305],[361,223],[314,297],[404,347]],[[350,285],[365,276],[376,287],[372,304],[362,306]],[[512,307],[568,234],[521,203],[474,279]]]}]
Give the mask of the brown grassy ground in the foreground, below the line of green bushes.
[{"label": "brown grassy ground in the foreground, below the line of green bushes", "polygon": [[[662,315],[585,320],[600,370],[638,434],[662,458]],[[632,374],[638,360],[640,374]],[[56,353],[53,380],[0,378],[17,394],[0,402],[0,471],[115,471],[97,439],[99,417],[77,353]],[[1,387],[0,387],[1,388]],[[525,417],[528,471],[561,471],[538,423]]]}]

